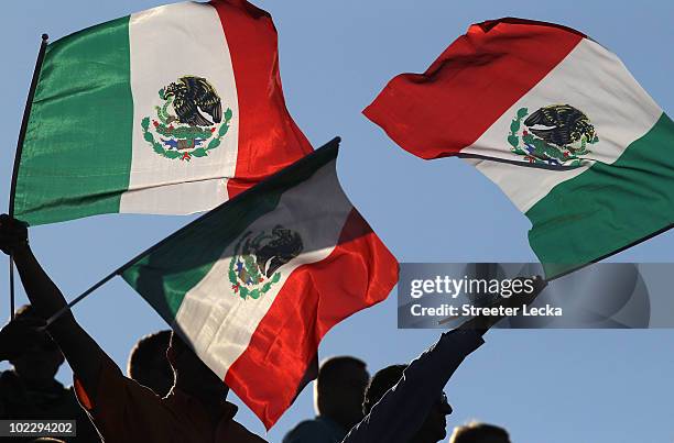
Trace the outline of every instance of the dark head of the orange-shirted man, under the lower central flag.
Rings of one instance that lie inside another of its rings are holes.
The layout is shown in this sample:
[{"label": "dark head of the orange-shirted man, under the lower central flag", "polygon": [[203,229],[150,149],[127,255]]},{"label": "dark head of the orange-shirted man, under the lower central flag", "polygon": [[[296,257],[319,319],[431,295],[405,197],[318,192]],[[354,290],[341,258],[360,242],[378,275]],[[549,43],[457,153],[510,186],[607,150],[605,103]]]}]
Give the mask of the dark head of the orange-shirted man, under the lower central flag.
[{"label": "dark head of the orange-shirted man, under the lower central flag", "polygon": [[205,403],[225,400],[229,387],[220,379],[178,334],[171,334],[166,357],[175,376],[174,388],[191,395]]}]

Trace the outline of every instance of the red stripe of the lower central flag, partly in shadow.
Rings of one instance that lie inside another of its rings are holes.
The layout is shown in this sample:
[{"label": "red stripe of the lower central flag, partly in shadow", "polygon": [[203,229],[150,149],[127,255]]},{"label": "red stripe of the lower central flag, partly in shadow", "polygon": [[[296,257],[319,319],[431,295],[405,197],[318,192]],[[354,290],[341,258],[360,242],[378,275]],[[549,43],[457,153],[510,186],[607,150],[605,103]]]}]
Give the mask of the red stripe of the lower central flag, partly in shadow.
[{"label": "red stripe of the lower central flag, partly in shadow", "polygon": [[294,400],[327,331],[385,299],[396,281],[395,257],[352,210],[330,255],[290,275],[225,383],[271,428]]}]

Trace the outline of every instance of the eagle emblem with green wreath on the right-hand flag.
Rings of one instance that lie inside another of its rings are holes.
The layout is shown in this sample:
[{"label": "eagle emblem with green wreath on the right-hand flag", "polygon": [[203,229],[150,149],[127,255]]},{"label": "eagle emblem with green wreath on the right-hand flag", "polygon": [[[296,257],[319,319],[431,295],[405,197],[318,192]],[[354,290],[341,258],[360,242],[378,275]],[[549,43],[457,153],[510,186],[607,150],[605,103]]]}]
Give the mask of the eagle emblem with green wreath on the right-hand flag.
[{"label": "eagle emblem with green wreath on the right-hand flag", "polygon": [[511,152],[531,164],[579,166],[599,142],[589,118],[570,104],[551,104],[529,113],[520,108],[510,123]]}]

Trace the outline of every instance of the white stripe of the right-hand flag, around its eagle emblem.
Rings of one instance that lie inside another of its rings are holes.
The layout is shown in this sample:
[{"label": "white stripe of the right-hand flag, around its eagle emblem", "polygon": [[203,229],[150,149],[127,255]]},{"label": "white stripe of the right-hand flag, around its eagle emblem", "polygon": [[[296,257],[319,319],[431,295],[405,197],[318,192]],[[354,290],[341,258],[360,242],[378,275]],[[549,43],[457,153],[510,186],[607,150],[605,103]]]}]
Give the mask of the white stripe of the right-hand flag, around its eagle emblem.
[{"label": "white stripe of the right-hand flag, around its eagle emblem", "polygon": [[[660,119],[662,110],[627,70],[622,62],[596,42],[584,38],[543,80],[518,100],[474,145],[461,153],[513,160],[510,154],[510,123],[520,108],[533,112],[550,104],[570,104],[581,110],[595,126],[599,142],[589,146],[594,160],[612,164],[630,143],[643,136]],[[587,167],[551,171],[504,163],[465,159],[496,182],[522,211],[526,212],[555,186]],[[593,162],[588,163],[588,166]]]}]

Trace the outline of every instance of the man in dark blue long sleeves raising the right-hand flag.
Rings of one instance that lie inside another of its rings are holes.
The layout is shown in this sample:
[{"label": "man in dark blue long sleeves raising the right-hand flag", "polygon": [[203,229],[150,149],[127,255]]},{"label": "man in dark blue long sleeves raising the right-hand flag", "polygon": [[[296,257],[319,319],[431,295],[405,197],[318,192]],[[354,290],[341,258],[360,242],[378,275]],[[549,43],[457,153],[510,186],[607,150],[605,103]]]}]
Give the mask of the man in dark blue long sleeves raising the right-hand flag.
[{"label": "man in dark blue long sleeves raising the right-hand flag", "polygon": [[[531,303],[545,287],[534,279],[530,295],[501,298],[493,307]],[[436,443],[446,434],[445,416],[452,408],[443,392],[461,362],[485,343],[482,335],[502,317],[475,317],[445,332],[409,365],[390,366],[374,375],[366,391],[366,417],[343,443]]]}]

